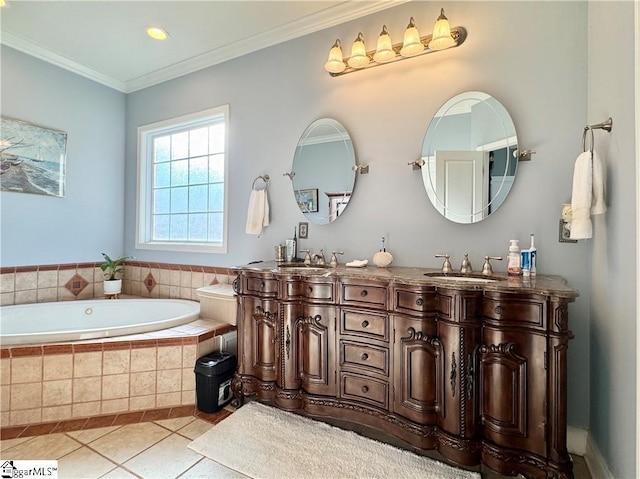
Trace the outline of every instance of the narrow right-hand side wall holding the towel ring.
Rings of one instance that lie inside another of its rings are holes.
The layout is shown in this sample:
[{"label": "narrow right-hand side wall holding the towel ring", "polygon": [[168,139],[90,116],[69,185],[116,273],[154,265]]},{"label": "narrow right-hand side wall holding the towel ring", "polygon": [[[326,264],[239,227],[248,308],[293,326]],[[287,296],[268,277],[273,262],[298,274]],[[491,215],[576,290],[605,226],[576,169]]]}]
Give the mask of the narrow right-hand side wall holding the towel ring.
[{"label": "narrow right-hand side wall holding the towel ring", "polygon": [[[608,211],[596,217],[591,268],[590,432],[614,477],[635,469],[636,298],[638,221],[634,134],[633,3],[589,2],[588,119],[613,117],[611,134],[596,132],[607,165]],[[640,81],[637,79],[635,81]],[[615,88],[611,88],[615,85]],[[636,102],[638,99],[636,99]]]}]

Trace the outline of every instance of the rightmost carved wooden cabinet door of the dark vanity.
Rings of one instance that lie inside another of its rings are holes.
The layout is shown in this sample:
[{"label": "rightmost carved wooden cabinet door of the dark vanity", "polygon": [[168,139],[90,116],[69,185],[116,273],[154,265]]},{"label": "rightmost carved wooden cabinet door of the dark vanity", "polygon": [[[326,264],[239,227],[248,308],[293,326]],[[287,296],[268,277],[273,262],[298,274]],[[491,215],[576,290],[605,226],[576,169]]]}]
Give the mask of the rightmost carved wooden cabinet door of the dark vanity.
[{"label": "rightmost carved wooden cabinet door of the dark vanity", "polygon": [[484,326],[478,413],[493,444],[546,457],[546,350],[544,335]]}]

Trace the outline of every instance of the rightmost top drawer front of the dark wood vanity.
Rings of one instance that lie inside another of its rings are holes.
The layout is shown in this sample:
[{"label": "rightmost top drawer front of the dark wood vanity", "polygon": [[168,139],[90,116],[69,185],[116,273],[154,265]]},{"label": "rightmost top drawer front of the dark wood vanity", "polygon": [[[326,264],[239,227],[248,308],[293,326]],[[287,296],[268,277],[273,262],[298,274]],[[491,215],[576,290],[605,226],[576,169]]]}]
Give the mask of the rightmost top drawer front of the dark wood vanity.
[{"label": "rightmost top drawer front of the dark wood vanity", "polygon": [[482,302],[482,315],[500,321],[501,324],[512,323],[515,326],[544,327],[546,302],[536,301],[531,296],[489,299]]}]

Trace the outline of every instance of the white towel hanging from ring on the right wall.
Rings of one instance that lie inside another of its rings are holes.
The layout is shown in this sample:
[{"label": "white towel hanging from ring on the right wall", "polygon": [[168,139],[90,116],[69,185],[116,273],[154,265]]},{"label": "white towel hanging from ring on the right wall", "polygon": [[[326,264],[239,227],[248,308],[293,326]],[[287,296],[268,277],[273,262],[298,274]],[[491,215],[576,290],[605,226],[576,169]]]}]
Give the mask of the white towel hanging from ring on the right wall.
[{"label": "white towel hanging from ring on the right wall", "polygon": [[606,210],[602,162],[595,151],[593,155],[590,151],[585,151],[578,155],[573,171],[572,220],[569,237],[571,239],[591,238],[593,236],[591,215],[600,215]]}]

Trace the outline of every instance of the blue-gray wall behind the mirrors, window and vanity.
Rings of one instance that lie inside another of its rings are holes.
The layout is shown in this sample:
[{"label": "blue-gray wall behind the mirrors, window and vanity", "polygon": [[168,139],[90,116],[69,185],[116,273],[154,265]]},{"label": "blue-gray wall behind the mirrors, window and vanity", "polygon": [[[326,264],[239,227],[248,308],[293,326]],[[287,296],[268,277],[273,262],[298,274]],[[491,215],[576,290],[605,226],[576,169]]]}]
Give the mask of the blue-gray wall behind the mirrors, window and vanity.
[{"label": "blue-gray wall behind the mirrors, window and vanity", "polygon": [[[569,423],[589,424],[589,282],[587,245],[558,243],[562,204],[571,197],[573,163],[587,119],[587,5],[582,2],[451,2],[442,4],[453,25],[469,36],[459,48],[332,78],[323,70],[336,38],[349,45],[358,31],[369,48],[385,23],[400,41],[414,16],[426,34],[440,4],[401,5],[308,35],[174,81],[130,94],[127,102],[126,253],[141,260],[234,265],[273,257],[273,245],[305,221],[293,200],[290,171],[296,144],[314,120],[340,121],[370,174],[357,178],[343,215],[329,226],[309,225],[299,249],[344,251],[344,261],[371,258],[380,236],[396,265],[436,267],[436,253],[456,266],[468,252],[506,256],[509,240],[528,244],[535,232],[538,272],[565,276],[581,291],[571,305]],[[571,19],[571,21],[567,21]],[[544,32],[554,32],[545,35]],[[347,46],[346,49],[349,47]],[[419,172],[425,131],[450,97],[468,90],[495,96],[511,113],[523,148],[537,154],[522,163],[509,198],[487,220],[452,223],[431,206]],[[136,128],[230,105],[229,250],[227,255],[134,250]],[[271,225],[257,238],[244,232],[253,179],[267,173]],[[544,185],[545,193],[541,193]],[[356,234],[357,233],[357,234]],[[496,269],[504,271],[505,264]]]}]

